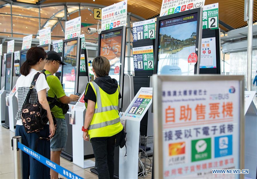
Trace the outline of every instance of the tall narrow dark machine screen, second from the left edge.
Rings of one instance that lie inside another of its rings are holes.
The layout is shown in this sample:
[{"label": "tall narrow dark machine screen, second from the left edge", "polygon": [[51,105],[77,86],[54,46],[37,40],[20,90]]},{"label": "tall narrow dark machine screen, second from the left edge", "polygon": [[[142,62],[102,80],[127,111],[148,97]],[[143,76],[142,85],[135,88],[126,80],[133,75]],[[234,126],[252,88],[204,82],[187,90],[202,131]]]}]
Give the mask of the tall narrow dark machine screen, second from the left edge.
[{"label": "tall narrow dark machine screen, second from the left edge", "polygon": [[10,92],[12,90],[13,83],[13,53],[6,54],[5,65],[5,90]]}]

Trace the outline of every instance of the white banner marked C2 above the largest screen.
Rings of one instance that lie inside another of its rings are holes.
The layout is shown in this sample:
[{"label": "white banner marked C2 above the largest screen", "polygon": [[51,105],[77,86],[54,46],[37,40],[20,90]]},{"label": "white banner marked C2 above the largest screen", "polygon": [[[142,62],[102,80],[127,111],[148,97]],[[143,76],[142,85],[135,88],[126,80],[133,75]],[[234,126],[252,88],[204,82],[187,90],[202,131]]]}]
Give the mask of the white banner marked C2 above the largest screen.
[{"label": "white banner marked C2 above the largest screen", "polygon": [[189,9],[195,9],[198,7],[204,7],[205,0],[162,0],[162,7],[160,11],[160,17],[166,16],[174,13],[179,13],[182,11],[187,11]]}]

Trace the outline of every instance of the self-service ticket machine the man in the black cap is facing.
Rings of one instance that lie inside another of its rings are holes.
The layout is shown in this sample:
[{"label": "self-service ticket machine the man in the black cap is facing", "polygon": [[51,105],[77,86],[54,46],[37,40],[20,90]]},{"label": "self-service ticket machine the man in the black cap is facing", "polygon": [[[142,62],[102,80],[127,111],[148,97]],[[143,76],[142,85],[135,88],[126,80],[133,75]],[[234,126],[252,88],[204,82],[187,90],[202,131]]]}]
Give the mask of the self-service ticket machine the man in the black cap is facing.
[{"label": "self-service ticket machine the man in the black cap is facing", "polygon": [[[82,52],[84,56],[87,56],[86,52]],[[80,72],[81,63],[81,39],[79,37],[71,38],[63,41],[63,61],[67,65],[62,65],[61,70],[61,82],[63,84],[64,92],[67,96],[71,94],[81,93],[83,94],[86,84],[89,81],[89,71],[88,63],[85,71]],[[85,60],[85,58],[84,58]],[[78,138],[76,134],[77,129],[73,130],[76,125],[76,120],[74,120],[74,106],[77,102],[71,102],[69,104],[69,111],[65,114],[65,120],[68,127],[68,138],[65,150],[62,151],[61,156],[69,161],[73,160],[73,139]],[[83,120],[77,118],[77,121]],[[80,126],[81,128],[81,126]],[[93,152],[88,153],[88,155],[93,155]]]}]

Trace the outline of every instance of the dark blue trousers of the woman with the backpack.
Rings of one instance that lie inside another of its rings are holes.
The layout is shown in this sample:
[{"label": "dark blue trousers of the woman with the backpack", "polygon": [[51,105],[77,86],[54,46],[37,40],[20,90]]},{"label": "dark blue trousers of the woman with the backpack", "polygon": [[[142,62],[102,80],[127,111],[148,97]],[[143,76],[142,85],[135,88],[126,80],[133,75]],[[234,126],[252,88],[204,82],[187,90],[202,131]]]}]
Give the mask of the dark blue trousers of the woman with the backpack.
[{"label": "dark blue trousers of the woman with the backpack", "polygon": [[[39,131],[39,134],[41,137],[48,137],[49,125],[46,125],[42,131]],[[27,133],[23,125],[16,125],[15,136],[21,136],[21,143],[35,150],[35,143],[38,139],[38,135],[35,132]],[[50,141],[38,140],[36,152],[50,160]],[[24,152],[22,152],[22,165],[23,179],[29,179],[29,176],[30,179],[48,179],[50,177],[50,168]]]}]

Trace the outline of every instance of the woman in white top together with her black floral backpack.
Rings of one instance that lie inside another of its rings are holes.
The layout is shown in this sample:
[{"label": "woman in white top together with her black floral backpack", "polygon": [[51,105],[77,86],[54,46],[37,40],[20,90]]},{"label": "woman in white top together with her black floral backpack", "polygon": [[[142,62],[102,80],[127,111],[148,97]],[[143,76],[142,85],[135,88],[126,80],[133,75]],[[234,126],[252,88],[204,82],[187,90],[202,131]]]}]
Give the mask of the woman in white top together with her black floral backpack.
[{"label": "woman in white top together with her black floral backpack", "polygon": [[[55,126],[46,96],[49,86],[45,74],[41,73],[47,62],[46,58],[43,48],[32,47],[20,68],[21,76],[17,79],[15,94],[19,107],[15,117],[15,135],[22,137],[23,145],[50,159],[49,139],[55,134]],[[24,179],[29,176],[30,179],[50,177],[49,167],[24,152],[22,161]]]}]

